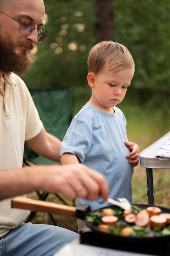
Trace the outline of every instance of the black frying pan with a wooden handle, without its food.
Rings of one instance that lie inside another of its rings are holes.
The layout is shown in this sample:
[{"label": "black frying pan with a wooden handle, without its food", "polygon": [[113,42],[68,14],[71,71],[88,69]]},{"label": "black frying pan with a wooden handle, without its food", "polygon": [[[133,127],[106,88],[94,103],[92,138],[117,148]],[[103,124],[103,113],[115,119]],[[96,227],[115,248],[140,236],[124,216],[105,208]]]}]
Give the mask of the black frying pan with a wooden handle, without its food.
[{"label": "black frying pan with a wooden handle, without its food", "polygon": [[[146,209],[149,206],[152,206],[150,204],[135,204],[138,205],[139,208],[141,209]],[[56,213],[56,214],[61,214],[65,216],[75,216],[77,218],[80,218],[82,220],[85,220],[85,223],[87,227],[92,229],[96,235],[103,236],[105,238],[113,239],[113,240],[120,240],[123,242],[144,242],[144,241],[165,241],[169,240],[170,241],[170,235],[167,236],[153,236],[153,237],[125,237],[125,236],[118,236],[114,234],[108,234],[105,232],[102,232],[98,229],[97,226],[93,225],[92,223],[88,222],[86,217],[89,216],[92,212],[89,205],[79,205],[78,207],[72,207],[64,204],[56,204],[52,202],[45,202],[41,200],[33,200],[30,198],[23,198],[23,197],[15,197],[11,201],[11,207],[12,208],[20,208],[20,209],[28,209],[31,211],[42,211],[42,212],[47,212],[47,213]],[[112,209],[120,209],[120,207],[116,205],[110,205]],[[159,206],[158,206],[159,207]],[[106,208],[106,207],[103,207]],[[102,209],[100,208],[98,211],[99,213],[102,212]],[[161,213],[170,213],[170,209],[166,207],[159,207],[161,209]]]}]

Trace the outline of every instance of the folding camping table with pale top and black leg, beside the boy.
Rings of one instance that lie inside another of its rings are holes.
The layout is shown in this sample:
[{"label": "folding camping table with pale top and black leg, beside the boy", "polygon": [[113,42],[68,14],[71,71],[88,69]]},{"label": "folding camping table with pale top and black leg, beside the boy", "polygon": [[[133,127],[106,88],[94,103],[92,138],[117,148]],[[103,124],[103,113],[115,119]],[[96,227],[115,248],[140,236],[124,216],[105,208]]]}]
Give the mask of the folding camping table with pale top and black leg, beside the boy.
[{"label": "folding camping table with pale top and black leg, beside the boy", "polygon": [[140,166],[146,168],[148,204],[154,204],[153,168],[170,169],[170,160],[159,160],[155,157],[159,146],[165,137],[170,137],[170,131],[139,153]]}]

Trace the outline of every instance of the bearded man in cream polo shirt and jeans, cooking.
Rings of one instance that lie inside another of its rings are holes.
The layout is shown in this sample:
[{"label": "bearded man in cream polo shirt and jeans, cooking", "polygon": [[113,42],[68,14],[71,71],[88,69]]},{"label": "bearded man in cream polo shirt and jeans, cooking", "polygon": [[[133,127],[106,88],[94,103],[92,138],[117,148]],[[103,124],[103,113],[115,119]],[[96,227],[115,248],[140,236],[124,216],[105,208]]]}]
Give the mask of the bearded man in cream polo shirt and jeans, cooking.
[{"label": "bearded man in cream polo shirt and jeans, cooking", "polygon": [[[94,200],[101,194],[107,199],[104,177],[87,166],[22,168],[24,141],[39,155],[60,162],[61,141],[46,132],[20,78],[31,66],[34,44],[47,36],[44,14],[43,0],[0,0],[0,198],[43,189],[69,199]],[[53,225],[24,223],[28,214],[11,209],[10,198],[0,201],[0,256],[52,256],[78,236]]]}]

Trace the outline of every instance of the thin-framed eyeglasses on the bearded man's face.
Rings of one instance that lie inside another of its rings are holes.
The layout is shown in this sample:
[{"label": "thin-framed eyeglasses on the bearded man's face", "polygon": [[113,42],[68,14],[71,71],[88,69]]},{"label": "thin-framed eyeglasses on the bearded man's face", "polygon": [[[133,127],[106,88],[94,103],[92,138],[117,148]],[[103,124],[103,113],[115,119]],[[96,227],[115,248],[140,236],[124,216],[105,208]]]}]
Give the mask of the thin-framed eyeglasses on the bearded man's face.
[{"label": "thin-framed eyeglasses on the bearded man's face", "polygon": [[[0,11],[0,12],[4,13],[3,11]],[[29,36],[35,29],[35,25],[37,25],[37,31],[38,31],[37,41],[38,41],[38,43],[42,43],[42,41],[46,38],[47,30],[44,27],[39,26],[32,20],[17,20],[15,18],[11,17],[10,15],[8,15],[7,13],[4,13],[4,14],[7,15],[8,17],[12,18],[13,20],[16,20],[17,22],[20,22],[20,27],[18,30],[19,30],[20,34],[22,34],[23,36]]]}]

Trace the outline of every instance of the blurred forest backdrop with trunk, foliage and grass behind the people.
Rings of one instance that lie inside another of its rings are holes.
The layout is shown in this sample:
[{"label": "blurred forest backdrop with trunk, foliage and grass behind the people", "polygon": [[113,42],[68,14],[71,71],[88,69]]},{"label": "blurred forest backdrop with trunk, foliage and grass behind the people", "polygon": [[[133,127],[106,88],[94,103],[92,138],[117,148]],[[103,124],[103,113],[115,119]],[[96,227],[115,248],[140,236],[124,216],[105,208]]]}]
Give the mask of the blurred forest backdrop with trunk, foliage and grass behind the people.
[{"label": "blurred forest backdrop with trunk, foliage and grass behind the people", "polygon": [[[44,3],[48,37],[35,46],[35,62],[23,77],[28,88],[72,86],[75,115],[91,95],[87,85],[89,49],[100,40],[117,41],[130,50],[135,61],[131,87],[118,105],[128,122],[129,141],[139,144],[142,151],[166,134],[170,130],[170,1]],[[155,204],[170,207],[170,171],[153,173]],[[137,166],[133,176],[135,201],[147,203],[146,170]]]}]

